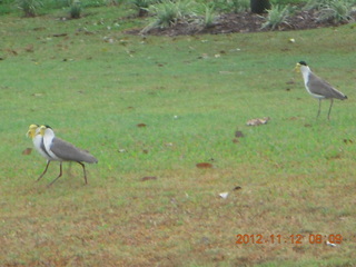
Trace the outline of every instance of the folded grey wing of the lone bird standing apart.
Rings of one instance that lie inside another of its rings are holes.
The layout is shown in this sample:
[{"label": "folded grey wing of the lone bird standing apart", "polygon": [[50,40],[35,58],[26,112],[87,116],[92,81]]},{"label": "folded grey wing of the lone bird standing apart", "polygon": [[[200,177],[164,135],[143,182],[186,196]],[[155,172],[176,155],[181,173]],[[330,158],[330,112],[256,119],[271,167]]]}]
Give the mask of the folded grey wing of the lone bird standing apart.
[{"label": "folded grey wing of the lone bird standing apart", "polygon": [[308,87],[313,93],[324,96],[325,98],[337,98],[342,100],[347,98],[343,92],[314,73],[309,75]]}]

